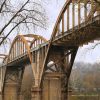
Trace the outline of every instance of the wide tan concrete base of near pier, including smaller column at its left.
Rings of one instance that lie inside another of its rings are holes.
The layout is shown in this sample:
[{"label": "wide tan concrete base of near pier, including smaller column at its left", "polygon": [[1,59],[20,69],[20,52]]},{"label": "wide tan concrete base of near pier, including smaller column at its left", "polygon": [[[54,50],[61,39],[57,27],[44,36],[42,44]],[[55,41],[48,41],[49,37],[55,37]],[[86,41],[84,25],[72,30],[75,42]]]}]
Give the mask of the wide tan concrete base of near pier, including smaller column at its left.
[{"label": "wide tan concrete base of near pier, including smaller column at its left", "polygon": [[41,87],[32,87],[31,100],[67,100],[65,77],[59,72],[45,73]]}]

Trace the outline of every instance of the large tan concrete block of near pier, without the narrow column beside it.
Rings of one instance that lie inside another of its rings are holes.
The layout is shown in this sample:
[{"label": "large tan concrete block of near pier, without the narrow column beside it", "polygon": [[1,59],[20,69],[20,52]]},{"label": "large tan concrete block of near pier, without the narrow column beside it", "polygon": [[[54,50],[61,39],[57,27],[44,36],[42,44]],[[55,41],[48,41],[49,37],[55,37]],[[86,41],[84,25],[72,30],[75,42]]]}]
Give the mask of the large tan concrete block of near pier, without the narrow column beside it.
[{"label": "large tan concrete block of near pier, without the narrow column beside it", "polygon": [[42,100],[67,100],[63,78],[63,73],[46,73],[42,83]]}]

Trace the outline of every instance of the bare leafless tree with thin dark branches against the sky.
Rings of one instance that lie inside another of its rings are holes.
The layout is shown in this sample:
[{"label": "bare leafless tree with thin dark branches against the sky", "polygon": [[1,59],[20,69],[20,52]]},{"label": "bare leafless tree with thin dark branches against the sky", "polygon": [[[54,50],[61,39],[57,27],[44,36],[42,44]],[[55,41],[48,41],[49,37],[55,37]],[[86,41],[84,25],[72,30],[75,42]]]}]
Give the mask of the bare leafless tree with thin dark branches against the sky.
[{"label": "bare leafless tree with thin dark branches against the sky", "polygon": [[38,0],[0,0],[0,45],[14,30],[45,28],[46,16]]}]

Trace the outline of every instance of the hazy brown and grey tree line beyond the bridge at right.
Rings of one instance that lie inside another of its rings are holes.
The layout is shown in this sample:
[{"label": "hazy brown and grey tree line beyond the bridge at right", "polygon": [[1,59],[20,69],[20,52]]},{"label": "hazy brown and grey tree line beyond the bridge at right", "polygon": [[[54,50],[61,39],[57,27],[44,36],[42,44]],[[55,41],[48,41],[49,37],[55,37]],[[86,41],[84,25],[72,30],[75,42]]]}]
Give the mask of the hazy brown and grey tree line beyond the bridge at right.
[{"label": "hazy brown and grey tree line beyond the bridge at right", "polygon": [[69,85],[80,92],[100,92],[100,63],[75,63]]}]

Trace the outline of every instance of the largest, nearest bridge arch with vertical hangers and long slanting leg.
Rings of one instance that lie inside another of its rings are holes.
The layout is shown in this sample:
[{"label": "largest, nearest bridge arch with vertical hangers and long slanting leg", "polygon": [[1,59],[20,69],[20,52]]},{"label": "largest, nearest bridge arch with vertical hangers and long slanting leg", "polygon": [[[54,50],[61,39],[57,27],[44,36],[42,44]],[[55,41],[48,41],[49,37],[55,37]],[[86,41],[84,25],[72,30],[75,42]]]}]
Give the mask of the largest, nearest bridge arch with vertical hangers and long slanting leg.
[{"label": "largest, nearest bridge arch with vertical hangers and long slanting leg", "polygon": [[[90,8],[88,11],[87,9],[89,6]],[[76,11],[76,8],[77,8],[77,11]],[[84,11],[83,16],[81,14],[82,10]],[[60,14],[58,15],[55,26],[53,28],[53,32],[51,34],[50,42],[48,45],[48,49],[47,49],[44,64],[43,64],[43,69],[41,71],[40,84],[41,84],[46,63],[49,57],[49,52],[53,45],[53,41],[59,39],[59,36],[64,36],[65,33],[70,35],[72,31],[75,32],[75,30],[80,29],[82,25],[83,26],[87,25],[89,21],[92,21],[93,18],[98,16],[99,14],[100,14],[100,5],[96,3],[95,0],[66,0]],[[65,38],[61,40],[60,43],[61,42],[63,43],[66,40],[67,39]],[[78,47],[76,46],[75,49],[76,48]],[[75,52],[77,52],[77,49],[75,50]],[[72,59],[74,61],[74,58]]]}]

